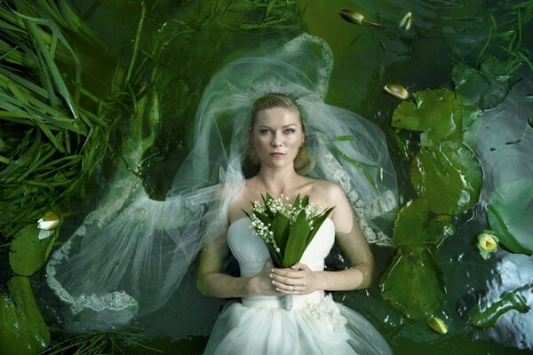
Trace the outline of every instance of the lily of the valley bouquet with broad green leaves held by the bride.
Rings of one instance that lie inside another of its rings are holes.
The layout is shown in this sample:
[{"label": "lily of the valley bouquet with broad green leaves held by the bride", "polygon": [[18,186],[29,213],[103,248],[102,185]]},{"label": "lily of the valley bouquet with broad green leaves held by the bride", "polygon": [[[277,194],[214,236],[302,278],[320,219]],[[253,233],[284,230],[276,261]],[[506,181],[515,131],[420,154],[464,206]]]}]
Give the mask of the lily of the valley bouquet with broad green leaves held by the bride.
[{"label": "lily of the valley bouquet with broad green leaves held by the bride", "polygon": [[[314,235],[330,215],[334,207],[320,212],[320,208],[309,202],[306,195],[299,194],[290,204],[281,195],[274,199],[270,194],[261,195],[263,203],[253,201],[251,213],[244,212],[251,219],[254,233],[267,245],[275,267],[290,267],[298,263]],[[282,297],[283,309],[292,308],[292,296]]]}]

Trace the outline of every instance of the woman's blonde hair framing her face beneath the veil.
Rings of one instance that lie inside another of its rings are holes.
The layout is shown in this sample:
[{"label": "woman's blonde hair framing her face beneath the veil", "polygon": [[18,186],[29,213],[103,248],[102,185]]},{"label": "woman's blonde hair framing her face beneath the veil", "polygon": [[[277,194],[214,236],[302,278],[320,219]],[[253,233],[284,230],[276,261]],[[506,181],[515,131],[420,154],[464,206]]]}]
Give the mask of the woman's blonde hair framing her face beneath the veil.
[{"label": "woman's blonde hair framing her face beneath the veil", "polygon": [[[306,131],[302,115],[299,112],[296,102],[293,99],[290,99],[287,95],[279,93],[269,93],[253,103],[253,106],[251,107],[251,127],[255,124],[260,111],[272,107],[296,108],[302,129],[304,132]],[[253,165],[259,165],[261,163],[255,147],[252,146],[250,141],[248,142],[248,146],[246,146],[246,155],[248,155],[248,158]],[[298,149],[296,158],[294,158],[294,170],[300,175],[306,175],[314,169],[314,163],[314,158],[309,151],[307,141],[304,141]]]}]

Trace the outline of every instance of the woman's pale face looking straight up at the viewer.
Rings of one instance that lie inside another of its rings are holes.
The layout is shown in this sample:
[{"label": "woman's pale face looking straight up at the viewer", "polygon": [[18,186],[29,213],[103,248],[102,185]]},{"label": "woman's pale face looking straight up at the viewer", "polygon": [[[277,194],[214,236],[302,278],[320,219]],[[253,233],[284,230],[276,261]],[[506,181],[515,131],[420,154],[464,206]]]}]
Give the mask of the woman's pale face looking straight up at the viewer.
[{"label": "woman's pale face looking straight up at the viewer", "polygon": [[259,111],[251,128],[251,143],[262,164],[293,164],[306,139],[296,107],[272,107]]}]

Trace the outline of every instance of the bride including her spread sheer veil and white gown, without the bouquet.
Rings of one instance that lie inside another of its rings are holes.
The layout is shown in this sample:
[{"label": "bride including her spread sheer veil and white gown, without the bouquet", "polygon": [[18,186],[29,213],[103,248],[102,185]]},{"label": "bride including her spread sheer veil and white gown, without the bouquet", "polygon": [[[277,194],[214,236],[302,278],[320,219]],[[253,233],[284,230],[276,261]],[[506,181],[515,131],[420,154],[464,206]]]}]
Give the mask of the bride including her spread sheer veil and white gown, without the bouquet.
[{"label": "bride including her spread sheer veil and white gown, without the bouquet", "polygon": [[[243,349],[258,344],[248,353],[390,351],[366,319],[323,291],[368,287],[367,241],[390,244],[380,231],[394,218],[396,176],[384,134],[324,103],[333,58],[320,38],[304,34],[262,48],[211,78],[195,116],[195,145],[164,201],[151,200],[139,178],[119,168],[99,209],[53,253],[47,281],[68,305],[69,330],[124,327],[160,309],[202,250],[199,289],[242,296],[219,316],[208,352],[235,353],[237,340]],[[324,209],[335,206],[288,269],[267,264],[243,214],[266,192],[308,194]],[[324,272],[334,241],[352,267]],[[228,250],[240,263],[239,278],[221,272]],[[281,295],[293,296],[290,312],[279,309]]]}]

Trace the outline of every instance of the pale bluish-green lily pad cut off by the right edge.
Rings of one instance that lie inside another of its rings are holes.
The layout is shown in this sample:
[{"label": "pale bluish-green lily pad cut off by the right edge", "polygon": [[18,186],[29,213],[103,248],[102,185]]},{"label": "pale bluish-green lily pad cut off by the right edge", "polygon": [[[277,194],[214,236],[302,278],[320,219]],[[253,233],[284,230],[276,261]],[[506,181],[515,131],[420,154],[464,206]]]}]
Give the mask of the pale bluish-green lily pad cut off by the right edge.
[{"label": "pale bluish-green lily pad cut off by the right edge", "polygon": [[533,254],[533,179],[501,185],[489,201],[489,225],[505,248]]}]

